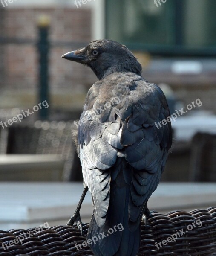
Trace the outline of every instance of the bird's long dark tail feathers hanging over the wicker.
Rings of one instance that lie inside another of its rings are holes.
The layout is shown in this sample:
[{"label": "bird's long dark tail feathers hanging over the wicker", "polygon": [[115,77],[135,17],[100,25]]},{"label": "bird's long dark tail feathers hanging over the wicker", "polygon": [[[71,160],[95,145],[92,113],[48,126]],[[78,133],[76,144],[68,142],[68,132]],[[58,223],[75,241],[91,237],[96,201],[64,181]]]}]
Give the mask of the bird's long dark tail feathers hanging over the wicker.
[{"label": "bird's long dark tail feathers hanging over the wicker", "polygon": [[93,214],[89,224],[87,241],[92,240],[90,246],[95,256],[135,256],[139,250],[140,224],[136,223],[133,230],[129,225],[131,170],[128,165],[122,164],[120,171],[115,171],[111,170],[106,221],[99,227]]}]

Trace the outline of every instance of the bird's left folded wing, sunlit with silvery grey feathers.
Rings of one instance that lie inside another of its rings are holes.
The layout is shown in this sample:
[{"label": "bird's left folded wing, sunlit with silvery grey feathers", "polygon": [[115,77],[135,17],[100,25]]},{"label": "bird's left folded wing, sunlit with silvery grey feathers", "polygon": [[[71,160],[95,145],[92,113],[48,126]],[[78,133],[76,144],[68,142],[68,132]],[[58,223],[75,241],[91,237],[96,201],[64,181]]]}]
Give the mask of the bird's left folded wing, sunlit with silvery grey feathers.
[{"label": "bird's left folded wing, sunlit with silvery grey feathers", "polygon": [[104,224],[109,206],[110,168],[115,164],[123,122],[115,108],[115,96],[102,97],[98,81],[87,94],[78,128],[78,144],[84,178],[92,194],[95,219]]}]

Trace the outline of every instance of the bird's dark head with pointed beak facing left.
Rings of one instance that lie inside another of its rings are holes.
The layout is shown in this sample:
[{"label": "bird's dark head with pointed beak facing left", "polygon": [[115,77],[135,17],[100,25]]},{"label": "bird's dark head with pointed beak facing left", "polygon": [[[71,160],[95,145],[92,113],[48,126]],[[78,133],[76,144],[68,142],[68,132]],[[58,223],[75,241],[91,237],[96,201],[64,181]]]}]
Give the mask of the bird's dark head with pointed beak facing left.
[{"label": "bird's dark head with pointed beak facing left", "polygon": [[114,72],[133,72],[141,75],[142,67],[132,52],[112,40],[96,40],[76,51],[62,56],[90,67],[98,79]]}]

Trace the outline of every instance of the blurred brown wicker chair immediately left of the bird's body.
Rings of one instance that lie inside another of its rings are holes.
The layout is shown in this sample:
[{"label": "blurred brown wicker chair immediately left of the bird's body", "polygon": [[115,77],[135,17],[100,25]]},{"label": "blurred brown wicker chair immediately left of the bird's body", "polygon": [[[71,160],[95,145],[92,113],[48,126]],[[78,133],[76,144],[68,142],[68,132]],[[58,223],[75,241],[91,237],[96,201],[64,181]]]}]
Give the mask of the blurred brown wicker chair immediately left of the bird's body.
[{"label": "blurred brown wicker chair immediately left of the bird's body", "polygon": [[7,154],[60,154],[64,181],[82,180],[81,164],[72,142],[73,122],[36,121],[9,127]]}]

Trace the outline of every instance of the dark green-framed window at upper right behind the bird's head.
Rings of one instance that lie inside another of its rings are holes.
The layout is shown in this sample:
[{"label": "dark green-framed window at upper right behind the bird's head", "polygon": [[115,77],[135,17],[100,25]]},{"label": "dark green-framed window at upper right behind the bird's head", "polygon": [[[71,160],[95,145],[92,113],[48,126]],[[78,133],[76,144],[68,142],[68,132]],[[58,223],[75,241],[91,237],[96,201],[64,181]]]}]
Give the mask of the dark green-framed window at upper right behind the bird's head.
[{"label": "dark green-framed window at upper right behind the bird's head", "polygon": [[107,0],[107,38],[153,54],[216,55],[216,1]]}]

